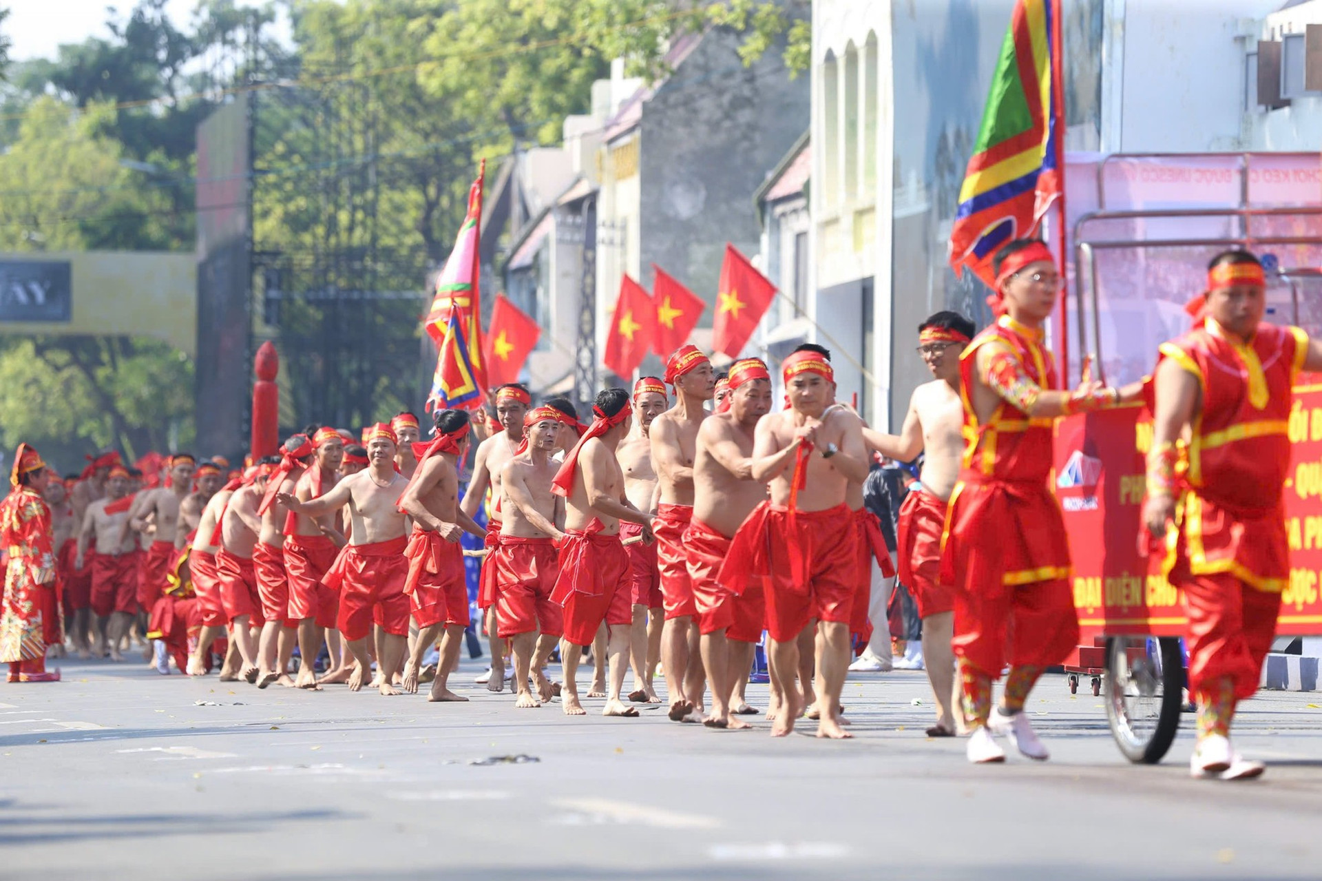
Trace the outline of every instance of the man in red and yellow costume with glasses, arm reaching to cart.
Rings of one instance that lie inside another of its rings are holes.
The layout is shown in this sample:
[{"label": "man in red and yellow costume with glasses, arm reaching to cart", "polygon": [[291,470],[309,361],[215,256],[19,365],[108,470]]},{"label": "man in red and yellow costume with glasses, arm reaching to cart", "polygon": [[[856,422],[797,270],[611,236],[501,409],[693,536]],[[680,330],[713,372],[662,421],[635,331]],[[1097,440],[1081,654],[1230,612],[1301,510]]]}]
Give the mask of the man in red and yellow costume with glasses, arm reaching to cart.
[{"label": "man in red and yellow costume with glasses, arm reaching to cart", "polygon": [[[960,357],[968,438],[951,495],[940,579],[956,586],[954,655],[970,762],[1003,762],[993,733],[1032,759],[1048,758],[1023,713],[1042,671],[1079,642],[1069,590],[1069,546],[1048,485],[1055,417],[1138,399],[1142,386],[1088,384],[1058,392],[1044,324],[1062,279],[1047,246],[1015,239],[995,255],[997,323]],[[1010,675],[992,710],[992,683]]]}]

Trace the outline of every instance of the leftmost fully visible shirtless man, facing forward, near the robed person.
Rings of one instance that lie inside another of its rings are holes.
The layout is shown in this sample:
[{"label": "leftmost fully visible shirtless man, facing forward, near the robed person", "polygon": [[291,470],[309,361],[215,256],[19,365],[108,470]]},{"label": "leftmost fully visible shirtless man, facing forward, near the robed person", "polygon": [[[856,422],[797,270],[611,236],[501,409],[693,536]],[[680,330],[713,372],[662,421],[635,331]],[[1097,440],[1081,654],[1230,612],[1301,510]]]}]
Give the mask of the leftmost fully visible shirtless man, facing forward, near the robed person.
[{"label": "leftmost fully visible shirtless man, facing forward, near the robed person", "polygon": [[106,480],[106,497],[87,505],[78,530],[78,556],[74,567],[82,569],[87,544],[97,540],[91,564],[91,610],[97,615],[95,655],[107,651],[114,661],[124,660],[119,640],[128,632],[137,614],[137,542],[126,534],[128,524],[128,471],[114,466]]}]

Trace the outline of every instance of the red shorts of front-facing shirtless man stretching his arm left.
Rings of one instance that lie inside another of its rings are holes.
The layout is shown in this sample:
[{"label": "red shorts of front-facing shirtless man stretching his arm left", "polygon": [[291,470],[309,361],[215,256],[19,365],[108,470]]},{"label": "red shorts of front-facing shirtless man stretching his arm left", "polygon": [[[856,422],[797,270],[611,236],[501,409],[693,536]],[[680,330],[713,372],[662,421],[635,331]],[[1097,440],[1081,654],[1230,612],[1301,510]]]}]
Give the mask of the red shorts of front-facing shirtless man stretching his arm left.
[{"label": "red shorts of front-facing shirtless man stretching his arm left", "polygon": [[340,614],[336,618],[344,638],[356,642],[371,632],[375,623],[391,636],[408,635],[407,536],[370,545],[349,545],[340,556]]}]

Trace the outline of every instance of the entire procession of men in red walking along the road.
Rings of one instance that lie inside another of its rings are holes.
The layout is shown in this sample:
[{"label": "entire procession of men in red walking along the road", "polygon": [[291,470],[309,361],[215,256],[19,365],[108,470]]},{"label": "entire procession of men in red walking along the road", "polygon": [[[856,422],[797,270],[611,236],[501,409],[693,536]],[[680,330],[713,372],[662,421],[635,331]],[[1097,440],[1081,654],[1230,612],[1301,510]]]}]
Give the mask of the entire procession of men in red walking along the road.
[{"label": "entire procession of men in red walking along the road", "polygon": [[765,640],[772,735],[806,717],[818,737],[847,738],[850,650],[884,627],[870,620],[874,561],[892,573],[863,483],[880,456],[923,452],[898,562],[923,619],[937,705],[927,733],[968,734],[977,763],[1005,761],[997,734],[1046,759],[1025,701],[1079,635],[1048,482],[1054,419],[1146,396],[1155,442],[1145,523],[1153,540],[1171,536],[1170,577],[1188,606],[1192,771],[1256,776],[1263,766],[1235,753],[1228,732],[1236,701],[1256,687],[1288,578],[1270,488],[1289,444],[1276,427],[1294,376],[1322,366],[1322,348],[1261,323],[1261,266],[1231,251],[1210,267],[1194,329],[1162,347],[1154,381],[1116,389],[1085,378],[1056,390],[1043,328],[1058,267],[1025,239],[998,254],[997,271],[989,328],[974,335],[953,312],[919,328],[933,380],[914,393],[896,435],[837,399],[830,352],[818,345],[780,365],[783,407],[761,360],[718,377],[685,345],[665,377],[598,394],[588,425],[564,398],[533,406],[524,386],[506,385],[494,418],[442,410],[430,439],[408,413],[360,437],[311,426],[241,471],[177,454],[155,487],[112,452],[62,482],[20,446],[0,503],[0,660],[9,681],[50,681],[48,646],[67,635],[82,657],[122,660],[136,627],[155,640],[163,673],[171,660],[189,675],[218,661],[222,680],[258,688],[342,683],[398,694],[430,681],[431,701],[463,701],[449,677],[471,624],[468,533],[483,541],[469,553],[483,556],[488,688],[512,679],[517,708],[559,697],[566,714],[584,714],[578,667],[595,647],[587,696],[605,698],[604,716],[660,702],[660,664],[672,721],[747,729],[740,717],[758,710],[744,684]]}]

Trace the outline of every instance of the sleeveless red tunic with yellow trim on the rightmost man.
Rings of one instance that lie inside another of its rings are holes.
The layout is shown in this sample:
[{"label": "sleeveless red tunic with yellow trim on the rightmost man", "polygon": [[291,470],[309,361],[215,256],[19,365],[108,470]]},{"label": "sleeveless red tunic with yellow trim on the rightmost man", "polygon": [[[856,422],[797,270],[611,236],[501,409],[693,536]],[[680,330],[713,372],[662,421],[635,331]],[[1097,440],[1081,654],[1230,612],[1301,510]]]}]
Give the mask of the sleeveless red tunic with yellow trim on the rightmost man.
[{"label": "sleeveless red tunic with yellow trim on the rightmost man", "polygon": [[1245,344],[1207,319],[1162,344],[1161,358],[1198,377],[1202,393],[1191,426],[1181,530],[1167,560],[1173,581],[1228,573],[1274,594],[1289,585],[1288,421],[1307,341],[1297,327],[1260,324]]}]

